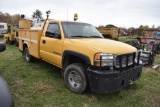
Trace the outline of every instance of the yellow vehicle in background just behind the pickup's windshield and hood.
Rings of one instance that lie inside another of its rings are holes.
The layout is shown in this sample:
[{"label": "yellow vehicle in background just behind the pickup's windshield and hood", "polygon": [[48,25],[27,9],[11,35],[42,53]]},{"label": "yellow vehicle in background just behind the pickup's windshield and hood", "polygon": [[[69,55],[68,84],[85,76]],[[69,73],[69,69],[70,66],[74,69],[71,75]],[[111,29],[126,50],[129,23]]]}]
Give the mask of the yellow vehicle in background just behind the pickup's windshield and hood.
[{"label": "yellow vehicle in background just behind the pickup's windshield and hood", "polygon": [[104,38],[118,40],[118,28],[117,27],[97,27],[97,30],[104,36]]}]

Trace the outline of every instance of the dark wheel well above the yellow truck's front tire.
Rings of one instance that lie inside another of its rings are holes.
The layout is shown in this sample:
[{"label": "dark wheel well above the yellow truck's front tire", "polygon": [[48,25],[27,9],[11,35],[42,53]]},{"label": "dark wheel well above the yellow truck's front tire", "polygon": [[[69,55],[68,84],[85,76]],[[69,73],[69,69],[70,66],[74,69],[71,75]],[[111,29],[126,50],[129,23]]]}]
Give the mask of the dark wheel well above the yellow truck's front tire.
[{"label": "dark wheel well above the yellow truck's front tire", "polygon": [[66,67],[72,63],[81,63],[83,65],[86,65],[86,62],[82,58],[74,55],[66,55],[62,63],[62,71],[64,71]]}]

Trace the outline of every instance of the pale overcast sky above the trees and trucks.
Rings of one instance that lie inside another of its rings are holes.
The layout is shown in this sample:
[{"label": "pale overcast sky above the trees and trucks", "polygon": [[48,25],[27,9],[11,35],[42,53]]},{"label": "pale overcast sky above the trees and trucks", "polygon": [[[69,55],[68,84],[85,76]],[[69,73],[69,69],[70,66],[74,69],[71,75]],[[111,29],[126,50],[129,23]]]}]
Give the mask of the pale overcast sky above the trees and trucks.
[{"label": "pale overcast sky above the trees and trucks", "polygon": [[160,26],[160,0],[0,0],[0,11],[25,14],[31,17],[39,9],[51,19],[73,20],[98,25],[114,24],[118,27]]}]

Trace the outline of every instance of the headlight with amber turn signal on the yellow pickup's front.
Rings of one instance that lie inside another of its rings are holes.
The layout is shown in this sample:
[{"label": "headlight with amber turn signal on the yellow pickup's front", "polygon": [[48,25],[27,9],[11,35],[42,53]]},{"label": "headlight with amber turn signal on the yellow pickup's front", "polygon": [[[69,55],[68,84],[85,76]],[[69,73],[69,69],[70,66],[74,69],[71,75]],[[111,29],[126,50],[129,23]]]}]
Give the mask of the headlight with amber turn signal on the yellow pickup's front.
[{"label": "headlight with amber turn signal on the yellow pickup's front", "polygon": [[95,66],[113,66],[113,54],[96,53],[94,55]]}]

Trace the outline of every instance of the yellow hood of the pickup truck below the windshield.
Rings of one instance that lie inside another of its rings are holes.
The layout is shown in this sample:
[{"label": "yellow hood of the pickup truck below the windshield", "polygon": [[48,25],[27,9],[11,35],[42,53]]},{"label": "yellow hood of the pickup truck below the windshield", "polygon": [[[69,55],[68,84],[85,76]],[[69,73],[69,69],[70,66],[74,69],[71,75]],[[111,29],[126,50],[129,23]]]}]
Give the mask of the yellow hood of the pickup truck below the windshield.
[{"label": "yellow hood of the pickup truck below the windshield", "polygon": [[85,39],[70,39],[72,43],[82,45],[84,47],[90,47],[98,52],[112,53],[112,54],[126,54],[135,52],[137,49],[126,43],[110,40],[110,39],[97,39],[97,38],[85,38]]}]

